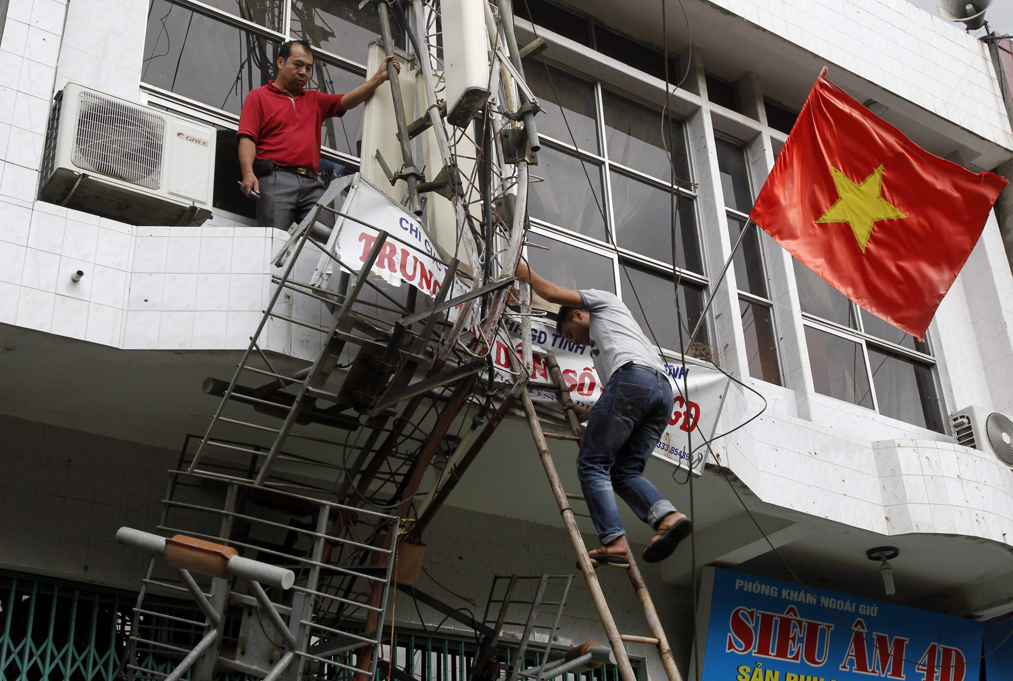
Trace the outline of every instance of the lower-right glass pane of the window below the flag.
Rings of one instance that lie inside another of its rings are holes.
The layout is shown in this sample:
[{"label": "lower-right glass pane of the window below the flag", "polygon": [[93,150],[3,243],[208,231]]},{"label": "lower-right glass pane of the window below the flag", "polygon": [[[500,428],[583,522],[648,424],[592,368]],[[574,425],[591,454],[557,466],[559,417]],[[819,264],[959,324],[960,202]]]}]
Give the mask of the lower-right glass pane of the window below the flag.
[{"label": "lower-right glass pane of the window below the flag", "polygon": [[930,366],[872,347],[869,365],[880,413],[945,433]]}]

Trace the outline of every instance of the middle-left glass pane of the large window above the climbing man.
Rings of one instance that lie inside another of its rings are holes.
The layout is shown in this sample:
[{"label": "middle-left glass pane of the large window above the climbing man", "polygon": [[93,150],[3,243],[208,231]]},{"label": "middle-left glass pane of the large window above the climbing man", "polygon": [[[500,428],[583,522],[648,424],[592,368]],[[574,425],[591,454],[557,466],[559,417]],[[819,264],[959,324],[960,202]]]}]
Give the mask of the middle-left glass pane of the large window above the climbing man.
[{"label": "middle-left glass pane of the large window above the climbing man", "polygon": [[[538,152],[535,174],[544,182],[532,182],[529,210],[533,218],[571,229],[596,239],[606,240],[601,210],[602,171],[591,161],[581,160],[549,147]],[[583,167],[580,164],[583,163]],[[587,176],[585,175],[587,171]],[[592,194],[588,176],[594,184]],[[597,199],[597,203],[596,203]],[[601,210],[600,210],[601,207]]]}]

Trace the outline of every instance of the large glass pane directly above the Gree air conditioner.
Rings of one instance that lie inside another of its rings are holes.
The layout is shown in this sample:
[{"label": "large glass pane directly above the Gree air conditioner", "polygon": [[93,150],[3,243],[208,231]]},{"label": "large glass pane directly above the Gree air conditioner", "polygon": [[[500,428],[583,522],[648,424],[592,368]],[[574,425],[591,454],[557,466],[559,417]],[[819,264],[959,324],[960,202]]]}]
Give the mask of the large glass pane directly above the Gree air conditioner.
[{"label": "large glass pane directly above the Gree air conditioner", "polygon": [[270,80],[278,43],[165,0],[148,14],[141,79],[230,114]]}]

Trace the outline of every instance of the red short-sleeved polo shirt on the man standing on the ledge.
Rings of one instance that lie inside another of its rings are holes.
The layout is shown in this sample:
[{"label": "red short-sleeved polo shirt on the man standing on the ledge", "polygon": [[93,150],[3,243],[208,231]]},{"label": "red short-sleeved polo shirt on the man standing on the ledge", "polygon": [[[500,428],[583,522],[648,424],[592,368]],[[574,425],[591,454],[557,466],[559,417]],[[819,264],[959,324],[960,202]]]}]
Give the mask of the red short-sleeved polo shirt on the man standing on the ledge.
[{"label": "red short-sleeved polo shirt on the man standing on the ledge", "polygon": [[343,94],[301,90],[293,99],[267,83],[250,90],[239,115],[238,136],[256,143],[256,159],[279,165],[312,168],[320,165],[320,127],[325,119],[344,116],[338,108]]}]

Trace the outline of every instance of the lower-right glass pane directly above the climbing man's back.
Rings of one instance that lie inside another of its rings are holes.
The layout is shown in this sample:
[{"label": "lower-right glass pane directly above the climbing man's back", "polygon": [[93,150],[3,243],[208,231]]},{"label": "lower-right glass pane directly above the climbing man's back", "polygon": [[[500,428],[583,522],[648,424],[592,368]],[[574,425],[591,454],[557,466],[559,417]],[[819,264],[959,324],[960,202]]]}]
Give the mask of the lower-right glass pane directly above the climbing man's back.
[{"label": "lower-right glass pane directly above the climbing man's back", "polygon": [[[648,270],[625,263],[625,268],[620,266],[619,277],[622,280],[622,298],[633,314],[633,318],[640,324],[640,328],[647,334],[647,338],[654,342],[651,330],[657,336],[657,343],[661,348],[668,350],[679,350],[679,326],[676,314],[675,284],[672,275],[660,275]],[[639,299],[639,304],[637,300]],[[690,331],[700,318],[703,311],[703,289],[683,284],[679,287],[679,304],[683,310],[683,343],[688,339]],[[640,306],[643,309],[640,309]],[[647,322],[650,323],[648,329],[644,323],[646,315]],[[688,353],[693,357],[708,356],[717,361],[717,353],[711,351],[707,335],[707,326],[700,329],[697,334],[693,350]]]}]

